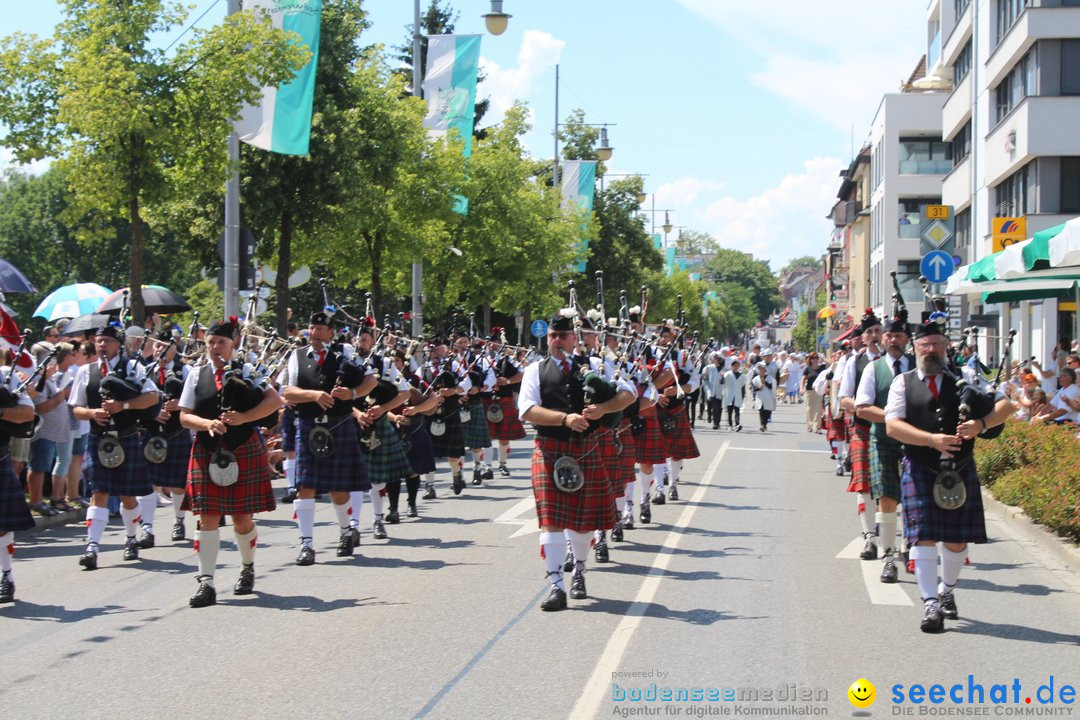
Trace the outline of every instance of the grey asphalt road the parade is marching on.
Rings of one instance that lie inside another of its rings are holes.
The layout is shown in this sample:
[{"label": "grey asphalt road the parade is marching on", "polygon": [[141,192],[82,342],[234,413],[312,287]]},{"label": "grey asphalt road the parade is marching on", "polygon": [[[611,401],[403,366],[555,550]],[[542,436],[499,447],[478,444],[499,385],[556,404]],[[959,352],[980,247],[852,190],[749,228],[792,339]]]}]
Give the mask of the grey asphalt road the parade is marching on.
[{"label": "grey asphalt road the parade is marching on", "polygon": [[[1034,693],[1051,675],[1055,693],[1080,685],[1076,569],[988,512],[991,542],[973,548],[957,589],[961,620],[923,635],[914,576],[882,587],[879,563],[858,559],[854,500],[801,413],[781,406],[766,434],[699,431],[683,499],[653,507],[611,563],[590,562],[590,598],[559,613],[538,608],[524,443],[511,478],[453,497],[443,473],[420,518],[389,526],[388,541],[365,530],[354,558],[335,557],[326,502],[313,567],[293,565],[289,506],[260,516],[253,596],[229,589],[240,560],[226,529],[213,608],[188,608],[190,541],[159,540],[123,562],[114,520],[100,569],[83,572],[80,525],[23,535],[18,599],[0,607],[0,706],[19,719],[850,717],[847,689],[866,678],[869,711],[887,717],[929,707],[893,706],[893,685],[947,689],[971,675],[987,694],[1017,679],[1010,708],[1075,714]],[[171,519],[159,510],[159,539]],[[633,699],[653,683],[718,697]]]}]

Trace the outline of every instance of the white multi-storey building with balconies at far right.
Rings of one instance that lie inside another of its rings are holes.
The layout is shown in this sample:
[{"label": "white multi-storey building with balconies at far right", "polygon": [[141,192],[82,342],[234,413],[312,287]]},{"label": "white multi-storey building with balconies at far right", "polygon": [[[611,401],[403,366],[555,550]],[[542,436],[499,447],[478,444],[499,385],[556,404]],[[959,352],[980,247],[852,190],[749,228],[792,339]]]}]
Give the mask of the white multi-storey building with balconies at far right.
[{"label": "white multi-storey building with balconies at far right", "polygon": [[[931,0],[927,26],[927,73],[953,85],[941,128],[955,167],[941,196],[956,209],[958,255],[993,252],[995,217],[1026,217],[1030,237],[1080,215],[1080,0]],[[999,315],[994,329],[1017,330],[1014,357],[1044,358],[1071,335],[1071,302],[969,301]]]}]

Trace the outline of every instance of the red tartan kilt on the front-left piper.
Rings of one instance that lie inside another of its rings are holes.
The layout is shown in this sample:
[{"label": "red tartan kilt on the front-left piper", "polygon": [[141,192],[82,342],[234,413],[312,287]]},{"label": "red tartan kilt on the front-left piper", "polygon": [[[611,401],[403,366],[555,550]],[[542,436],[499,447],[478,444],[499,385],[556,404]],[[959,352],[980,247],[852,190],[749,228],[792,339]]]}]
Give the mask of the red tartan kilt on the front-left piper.
[{"label": "red tartan kilt on the front-left piper", "polygon": [[191,462],[188,463],[187,494],[191,512],[195,515],[253,515],[269,513],[274,508],[271,487],[270,463],[266,444],[258,431],[233,450],[240,468],[239,479],[227,488],[214,485],[210,479],[210,460],[213,451],[202,443],[191,447]]}]

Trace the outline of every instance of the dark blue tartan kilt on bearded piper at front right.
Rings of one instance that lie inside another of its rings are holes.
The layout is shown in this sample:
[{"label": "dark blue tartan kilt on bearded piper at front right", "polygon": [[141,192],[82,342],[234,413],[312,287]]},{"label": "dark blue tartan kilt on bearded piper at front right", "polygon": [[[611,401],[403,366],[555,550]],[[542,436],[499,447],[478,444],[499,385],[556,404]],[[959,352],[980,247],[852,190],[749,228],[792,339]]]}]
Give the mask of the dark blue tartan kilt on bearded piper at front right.
[{"label": "dark blue tartan kilt on bearded piper at front right", "polygon": [[986,520],[975,461],[957,471],[968,489],[968,501],[958,510],[942,510],[934,503],[937,471],[904,459],[901,479],[904,503],[904,536],[908,545],[921,540],[943,543],[985,543]]}]

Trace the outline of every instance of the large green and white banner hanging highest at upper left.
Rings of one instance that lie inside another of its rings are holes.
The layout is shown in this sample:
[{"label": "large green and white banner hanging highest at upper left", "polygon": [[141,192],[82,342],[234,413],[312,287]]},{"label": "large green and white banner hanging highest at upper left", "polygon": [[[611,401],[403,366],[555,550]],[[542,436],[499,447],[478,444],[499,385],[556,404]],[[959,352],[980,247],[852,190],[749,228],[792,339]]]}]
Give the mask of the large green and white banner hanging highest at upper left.
[{"label": "large green and white banner hanging highest at upper left", "polygon": [[243,6],[269,15],[275,28],[300,36],[300,42],[311,51],[311,59],[292,81],[280,87],[264,87],[262,100],[241,110],[237,135],[256,148],[306,155],[311,140],[323,0],[244,0]]}]

